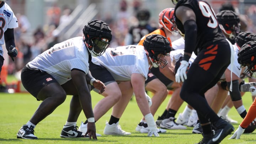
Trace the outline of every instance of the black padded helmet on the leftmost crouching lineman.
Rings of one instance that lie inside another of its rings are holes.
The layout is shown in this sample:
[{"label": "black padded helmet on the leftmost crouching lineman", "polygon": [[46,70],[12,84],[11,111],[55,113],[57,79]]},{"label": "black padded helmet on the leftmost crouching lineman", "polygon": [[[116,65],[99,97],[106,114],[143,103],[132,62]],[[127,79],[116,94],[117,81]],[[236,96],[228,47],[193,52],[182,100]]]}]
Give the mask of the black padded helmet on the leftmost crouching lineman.
[{"label": "black padded helmet on the leftmost crouching lineman", "polygon": [[89,21],[83,33],[86,47],[94,57],[102,55],[112,40],[110,27],[100,20]]}]

